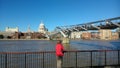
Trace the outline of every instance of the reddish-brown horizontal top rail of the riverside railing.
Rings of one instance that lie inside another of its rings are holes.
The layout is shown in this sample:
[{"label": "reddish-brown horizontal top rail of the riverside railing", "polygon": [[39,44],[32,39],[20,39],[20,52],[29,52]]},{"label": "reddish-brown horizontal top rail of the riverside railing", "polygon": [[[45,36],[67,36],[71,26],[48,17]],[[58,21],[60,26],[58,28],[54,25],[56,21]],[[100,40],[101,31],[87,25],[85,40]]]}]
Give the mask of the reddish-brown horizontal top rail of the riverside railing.
[{"label": "reddish-brown horizontal top rail of the riverside railing", "polygon": [[[109,52],[109,51],[120,51],[120,50],[71,50],[65,52]],[[39,53],[55,53],[55,51],[40,51],[40,52],[0,52],[0,54],[39,54]]]}]

